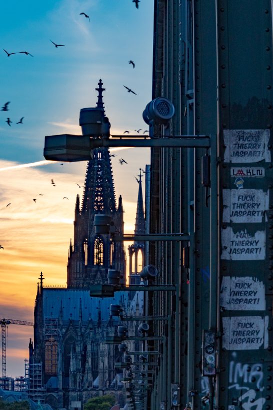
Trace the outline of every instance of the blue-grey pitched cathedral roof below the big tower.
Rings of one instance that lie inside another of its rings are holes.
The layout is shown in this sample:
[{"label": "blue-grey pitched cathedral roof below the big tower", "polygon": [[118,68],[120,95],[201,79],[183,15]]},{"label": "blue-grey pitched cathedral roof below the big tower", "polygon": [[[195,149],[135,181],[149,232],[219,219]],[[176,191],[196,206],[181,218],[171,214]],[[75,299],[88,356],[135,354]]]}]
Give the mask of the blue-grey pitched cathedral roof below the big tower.
[{"label": "blue-grey pitched cathedral roof below the big tower", "polygon": [[[125,293],[125,294],[124,294]],[[82,320],[97,321],[98,311],[102,321],[109,320],[110,304],[119,304],[120,298],[127,300],[128,292],[115,292],[114,297],[90,297],[89,289],[43,288],[43,319],[57,319],[62,306],[62,320],[78,320],[81,304]],[[117,320],[118,317],[113,317]]]}]

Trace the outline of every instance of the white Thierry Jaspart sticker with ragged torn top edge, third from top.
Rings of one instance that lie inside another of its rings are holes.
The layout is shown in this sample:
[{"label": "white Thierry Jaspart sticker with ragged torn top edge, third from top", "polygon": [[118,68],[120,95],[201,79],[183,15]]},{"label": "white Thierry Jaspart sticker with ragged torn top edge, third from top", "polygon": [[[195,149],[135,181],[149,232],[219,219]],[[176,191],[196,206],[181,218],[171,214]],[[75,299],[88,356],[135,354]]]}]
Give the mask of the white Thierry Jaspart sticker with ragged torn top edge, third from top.
[{"label": "white Thierry Jaspart sticker with ragged torn top edge, third from top", "polygon": [[244,231],[233,232],[228,226],[221,230],[221,259],[263,260],[265,259],[265,231],[256,231],[254,236]]}]

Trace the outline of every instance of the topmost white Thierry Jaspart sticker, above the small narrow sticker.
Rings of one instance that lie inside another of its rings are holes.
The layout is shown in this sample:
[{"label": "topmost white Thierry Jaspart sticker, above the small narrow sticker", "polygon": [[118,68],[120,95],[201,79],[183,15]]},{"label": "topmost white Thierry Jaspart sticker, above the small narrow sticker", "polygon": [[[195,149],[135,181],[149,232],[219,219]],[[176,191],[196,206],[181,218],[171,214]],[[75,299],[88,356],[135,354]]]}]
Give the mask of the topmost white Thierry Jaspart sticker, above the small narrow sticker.
[{"label": "topmost white Thierry Jaspart sticker, above the small narrow sticker", "polygon": [[223,130],[224,162],[270,162],[269,130]]}]

